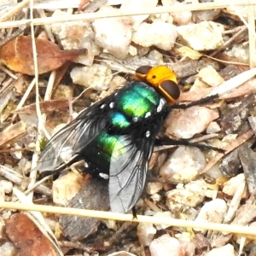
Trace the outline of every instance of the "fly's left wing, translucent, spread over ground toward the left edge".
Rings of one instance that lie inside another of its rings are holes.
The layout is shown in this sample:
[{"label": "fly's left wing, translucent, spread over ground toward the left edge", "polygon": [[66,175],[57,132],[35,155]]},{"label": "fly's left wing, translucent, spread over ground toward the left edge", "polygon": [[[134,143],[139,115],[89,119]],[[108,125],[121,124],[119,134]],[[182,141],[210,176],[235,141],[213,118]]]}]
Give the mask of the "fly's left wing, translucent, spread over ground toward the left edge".
[{"label": "fly's left wing, translucent, spread over ground toward the left edge", "polygon": [[44,148],[38,160],[38,171],[54,172],[75,159],[88,143],[106,128],[108,108],[102,106],[112,100],[113,96],[108,96],[86,108],[76,119],[58,131]]}]

